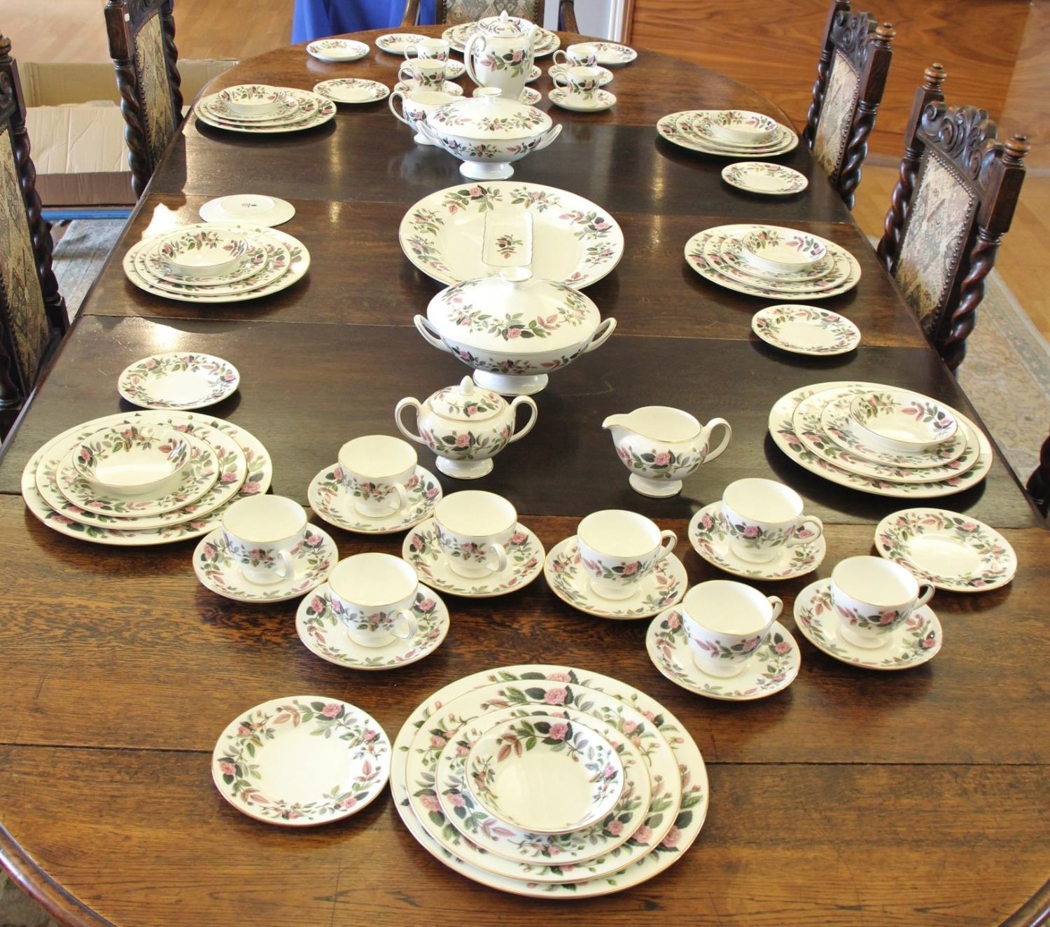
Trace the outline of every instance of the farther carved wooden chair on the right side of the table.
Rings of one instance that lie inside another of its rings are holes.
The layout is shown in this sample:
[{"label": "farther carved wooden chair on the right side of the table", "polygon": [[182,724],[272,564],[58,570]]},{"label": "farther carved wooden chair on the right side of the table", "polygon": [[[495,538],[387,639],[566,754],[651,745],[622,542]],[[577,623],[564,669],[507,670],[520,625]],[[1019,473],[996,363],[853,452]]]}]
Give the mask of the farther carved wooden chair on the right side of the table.
[{"label": "farther carved wooden chair on the right side of the table", "polygon": [[849,0],[832,3],[802,139],[849,209],[896,35],[889,23],[876,25],[868,13],[850,13]]}]

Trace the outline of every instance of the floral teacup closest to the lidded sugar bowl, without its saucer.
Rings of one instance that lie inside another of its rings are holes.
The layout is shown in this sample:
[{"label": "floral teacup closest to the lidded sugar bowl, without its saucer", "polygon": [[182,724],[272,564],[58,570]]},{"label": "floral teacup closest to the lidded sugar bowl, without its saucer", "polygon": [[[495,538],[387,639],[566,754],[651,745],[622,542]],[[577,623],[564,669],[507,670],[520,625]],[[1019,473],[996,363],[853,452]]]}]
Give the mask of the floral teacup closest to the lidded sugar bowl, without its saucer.
[{"label": "floral teacup closest to the lidded sugar bowl, without its saucer", "polygon": [[339,469],[354,508],[384,518],[408,504],[405,484],[416,473],[416,449],[400,438],[365,435],[339,448]]}]

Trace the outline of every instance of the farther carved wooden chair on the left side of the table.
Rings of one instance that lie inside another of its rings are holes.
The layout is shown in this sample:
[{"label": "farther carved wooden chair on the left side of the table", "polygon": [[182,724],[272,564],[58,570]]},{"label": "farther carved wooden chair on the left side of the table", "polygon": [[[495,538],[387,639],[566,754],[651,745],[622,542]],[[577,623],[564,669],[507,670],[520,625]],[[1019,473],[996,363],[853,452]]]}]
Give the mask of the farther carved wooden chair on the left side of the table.
[{"label": "farther carved wooden chair on the left side of the table", "polygon": [[182,121],[174,0],[108,0],[106,31],[127,128],[131,187],[141,196]]}]

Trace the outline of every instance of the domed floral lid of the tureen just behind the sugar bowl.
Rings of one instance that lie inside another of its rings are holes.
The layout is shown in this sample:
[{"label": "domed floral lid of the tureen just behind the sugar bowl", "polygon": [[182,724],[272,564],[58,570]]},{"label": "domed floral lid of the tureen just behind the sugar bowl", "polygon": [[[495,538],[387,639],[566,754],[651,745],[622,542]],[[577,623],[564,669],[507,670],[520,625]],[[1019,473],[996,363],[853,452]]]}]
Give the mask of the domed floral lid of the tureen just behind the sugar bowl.
[{"label": "domed floral lid of the tureen just behind the sugar bowl", "polygon": [[446,287],[430,300],[426,317],[450,341],[501,354],[574,347],[602,320],[579,290],[534,278],[527,268]]}]

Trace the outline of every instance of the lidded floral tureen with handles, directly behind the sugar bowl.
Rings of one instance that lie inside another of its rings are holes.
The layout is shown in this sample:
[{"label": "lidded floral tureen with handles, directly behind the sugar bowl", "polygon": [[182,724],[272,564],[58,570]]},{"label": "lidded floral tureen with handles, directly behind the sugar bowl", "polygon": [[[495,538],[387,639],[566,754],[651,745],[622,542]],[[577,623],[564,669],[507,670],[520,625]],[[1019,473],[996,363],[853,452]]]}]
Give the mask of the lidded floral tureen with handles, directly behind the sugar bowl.
[{"label": "lidded floral tureen with handles, directly behind the sugar bowl", "polygon": [[419,333],[508,396],[539,393],[547,374],[605,342],[616,328],[579,290],[533,278],[527,268],[446,287],[415,317]]}]

